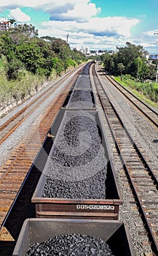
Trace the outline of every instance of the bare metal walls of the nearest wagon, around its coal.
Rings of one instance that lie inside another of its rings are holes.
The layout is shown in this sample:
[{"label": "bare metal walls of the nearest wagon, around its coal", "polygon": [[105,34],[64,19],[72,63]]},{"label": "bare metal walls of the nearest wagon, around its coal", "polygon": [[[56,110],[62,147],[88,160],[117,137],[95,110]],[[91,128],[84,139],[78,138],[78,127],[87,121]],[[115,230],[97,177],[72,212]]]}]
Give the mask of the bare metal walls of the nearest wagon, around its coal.
[{"label": "bare metal walls of the nearest wagon, around its coal", "polygon": [[26,219],[13,256],[25,255],[30,244],[68,233],[97,236],[106,241],[115,256],[135,255],[129,230],[124,222],[101,219]]}]

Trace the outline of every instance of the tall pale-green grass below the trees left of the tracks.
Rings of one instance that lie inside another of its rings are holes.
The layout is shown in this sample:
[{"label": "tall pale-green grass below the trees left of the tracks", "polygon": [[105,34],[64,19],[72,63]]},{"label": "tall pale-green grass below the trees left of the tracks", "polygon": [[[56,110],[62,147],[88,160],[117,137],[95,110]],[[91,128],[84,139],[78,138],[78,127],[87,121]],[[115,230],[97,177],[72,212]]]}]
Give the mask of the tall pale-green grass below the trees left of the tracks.
[{"label": "tall pale-green grass below the trees left of the tracks", "polygon": [[[74,64],[74,63],[73,63]],[[28,72],[26,69],[21,68],[18,70],[16,80],[8,80],[7,78],[7,59],[5,56],[0,58],[0,110],[5,108],[12,102],[23,102],[28,97],[31,97],[39,87],[47,80],[44,75]],[[74,66],[68,67],[74,69]],[[58,72],[52,69],[52,74],[49,80],[56,80]]]}]

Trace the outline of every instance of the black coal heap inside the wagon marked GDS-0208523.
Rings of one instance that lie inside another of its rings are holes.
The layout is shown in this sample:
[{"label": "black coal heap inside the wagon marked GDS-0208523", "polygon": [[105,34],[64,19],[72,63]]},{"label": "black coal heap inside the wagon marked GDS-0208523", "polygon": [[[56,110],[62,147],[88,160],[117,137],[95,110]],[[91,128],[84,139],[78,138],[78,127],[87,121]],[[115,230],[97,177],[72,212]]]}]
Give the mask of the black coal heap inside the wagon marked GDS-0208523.
[{"label": "black coal heap inside the wagon marked GDS-0208523", "polygon": [[106,199],[106,165],[95,116],[69,110],[55,142],[42,197]]}]

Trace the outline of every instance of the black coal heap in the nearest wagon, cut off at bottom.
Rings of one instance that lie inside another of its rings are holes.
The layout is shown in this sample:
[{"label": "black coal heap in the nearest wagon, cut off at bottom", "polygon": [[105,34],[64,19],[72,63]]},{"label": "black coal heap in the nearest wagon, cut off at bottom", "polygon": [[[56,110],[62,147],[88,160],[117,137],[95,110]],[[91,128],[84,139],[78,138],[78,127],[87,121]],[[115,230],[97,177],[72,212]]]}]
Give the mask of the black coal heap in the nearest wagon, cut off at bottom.
[{"label": "black coal heap in the nearest wagon, cut off at bottom", "polygon": [[98,237],[68,234],[32,244],[26,256],[114,256],[105,241]]}]

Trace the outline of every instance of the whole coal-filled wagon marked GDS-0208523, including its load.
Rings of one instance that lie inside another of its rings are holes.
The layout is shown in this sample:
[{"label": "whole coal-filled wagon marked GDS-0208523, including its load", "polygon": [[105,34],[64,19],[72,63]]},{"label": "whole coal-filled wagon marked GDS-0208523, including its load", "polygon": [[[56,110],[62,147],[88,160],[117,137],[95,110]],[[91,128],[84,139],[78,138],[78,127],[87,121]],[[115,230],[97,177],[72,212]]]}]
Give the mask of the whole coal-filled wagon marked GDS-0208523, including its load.
[{"label": "whole coal-filled wagon marked GDS-0208523, including its load", "polygon": [[36,217],[118,219],[122,198],[98,111],[60,110],[50,133],[53,145],[32,197]]}]

